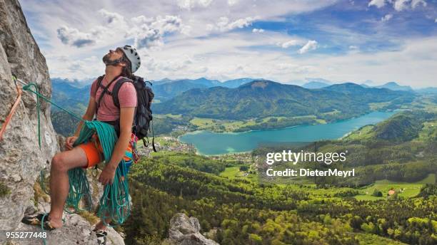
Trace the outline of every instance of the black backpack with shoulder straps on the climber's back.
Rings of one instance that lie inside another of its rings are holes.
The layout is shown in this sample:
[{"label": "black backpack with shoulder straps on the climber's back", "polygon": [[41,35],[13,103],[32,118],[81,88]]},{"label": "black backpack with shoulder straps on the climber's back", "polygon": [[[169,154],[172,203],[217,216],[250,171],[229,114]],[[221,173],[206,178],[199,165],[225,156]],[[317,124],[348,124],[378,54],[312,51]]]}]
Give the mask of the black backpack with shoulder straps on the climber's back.
[{"label": "black backpack with shoulder straps on the climber's back", "polygon": [[[97,78],[96,93],[99,87],[103,88],[103,92],[101,93],[99,100],[97,100],[96,117],[97,117],[97,112],[99,111],[101,99],[103,98],[105,93],[111,95],[112,100],[114,101],[114,105],[116,105],[117,108],[120,108],[119,90],[121,88],[121,85],[127,82],[133,83],[136,90],[137,105],[134,115],[134,125],[132,125],[132,132],[136,135],[136,137],[139,138],[139,140],[143,140],[144,145],[147,146],[145,139],[148,139],[147,141],[149,141],[149,138],[147,137],[148,133],[152,132],[152,135],[154,134],[153,123],[151,123],[153,117],[150,107],[151,107],[151,102],[154,99],[155,95],[154,92],[151,90],[151,88],[146,85],[146,83],[150,83],[150,82],[144,81],[144,78],[134,75],[134,80],[125,77],[122,77],[119,80],[117,80],[117,78],[119,77],[116,77],[113,80],[111,80],[111,82],[108,83],[108,85],[104,86],[101,84],[103,78],[104,75],[101,75],[99,76],[99,78]],[[115,80],[117,80],[117,82],[114,85],[114,88],[112,89],[112,91],[109,91],[108,89],[109,86],[111,86],[111,84],[114,83]],[[150,85],[152,85],[152,83],[150,83]],[[119,119],[111,122],[105,122],[105,123],[109,123],[113,125],[117,132],[117,135],[120,135]],[[155,137],[153,137],[152,139],[152,147],[156,152],[154,141],[155,141]]]}]

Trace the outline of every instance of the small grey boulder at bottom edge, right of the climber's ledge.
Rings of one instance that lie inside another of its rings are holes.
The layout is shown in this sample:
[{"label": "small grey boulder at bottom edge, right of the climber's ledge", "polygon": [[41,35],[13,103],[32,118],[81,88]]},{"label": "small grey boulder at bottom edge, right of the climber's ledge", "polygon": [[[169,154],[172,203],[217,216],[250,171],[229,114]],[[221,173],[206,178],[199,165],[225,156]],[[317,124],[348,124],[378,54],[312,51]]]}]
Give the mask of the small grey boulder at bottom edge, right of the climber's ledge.
[{"label": "small grey boulder at bottom edge, right of the climber's ledge", "polygon": [[177,245],[218,245],[200,233],[201,226],[195,217],[175,214],[170,220],[169,243]]}]

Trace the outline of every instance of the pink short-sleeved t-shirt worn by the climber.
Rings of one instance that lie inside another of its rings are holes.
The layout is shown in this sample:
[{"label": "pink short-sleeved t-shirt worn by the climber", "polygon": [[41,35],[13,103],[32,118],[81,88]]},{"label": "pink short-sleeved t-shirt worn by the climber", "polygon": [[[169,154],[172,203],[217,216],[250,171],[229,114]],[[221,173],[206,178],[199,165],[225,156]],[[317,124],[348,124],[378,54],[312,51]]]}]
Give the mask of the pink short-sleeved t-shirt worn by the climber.
[{"label": "pink short-sleeved t-shirt worn by the climber", "polygon": [[[119,80],[117,78],[117,80]],[[114,88],[114,85],[116,84],[117,80],[114,81],[109,86],[109,91],[112,91]],[[108,85],[110,81],[106,80],[106,76],[104,76],[103,80],[101,80],[101,85]],[[97,87],[97,79],[94,80],[93,84],[91,85],[91,92],[90,97],[94,98],[96,103],[98,102],[101,93],[103,92],[103,88],[99,87],[97,89],[96,93],[96,87]],[[95,95],[95,96],[94,96]],[[121,85],[119,90],[119,102],[120,102],[120,108],[129,108],[129,107],[136,107],[136,90],[134,87],[134,84],[132,83],[123,83]],[[99,111],[97,114],[97,120],[99,121],[114,121],[117,120],[120,117],[120,109],[114,105],[114,101],[112,100],[112,95],[109,95],[107,93],[104,94],[104,97],[101,99]]]}]

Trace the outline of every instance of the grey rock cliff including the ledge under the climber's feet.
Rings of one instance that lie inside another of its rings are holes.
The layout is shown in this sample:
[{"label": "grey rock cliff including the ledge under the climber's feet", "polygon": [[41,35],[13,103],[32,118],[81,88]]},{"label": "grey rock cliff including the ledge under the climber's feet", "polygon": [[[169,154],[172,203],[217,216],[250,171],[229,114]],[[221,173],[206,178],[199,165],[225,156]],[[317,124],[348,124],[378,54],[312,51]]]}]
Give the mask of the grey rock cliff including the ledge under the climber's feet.
[{"label": "grey rock cliff including the ledge under the climber's feet", "polygon": [[[39,92],[51,97],[51,82],[46,60],[39,51],[17,0],[0,0],[0,125],[17,98],[12,74],[26,83],[34,82]],[[21,85],[20,85],[21,86]],[[41,149],[38,140],[36,95],[23,91],[21,102],[0,141],[0,230],[41,231],[20,221],[24,213],[36,209],[49,211],[49,203],[34,200],[34,183],[40,170],[49,169],[51,157],[59,150],[50,120],[50,104],[41,100]],[[95,185],[94,185],[95,186]],[[93,187],[94,187],[93,186]],[[101,196],[101,186],[91,190]],[[35,204],[37,203],[37,207]],[[49,232],[47,244],[97,244],[89,221],[77,214],[67,214],[61,229]],[[0,244],[6,239],[0,236]],[[124,244],[114,229],[109,229],[108,244]],[[7,244],[42,244],[33,241],[9,241]]]}]

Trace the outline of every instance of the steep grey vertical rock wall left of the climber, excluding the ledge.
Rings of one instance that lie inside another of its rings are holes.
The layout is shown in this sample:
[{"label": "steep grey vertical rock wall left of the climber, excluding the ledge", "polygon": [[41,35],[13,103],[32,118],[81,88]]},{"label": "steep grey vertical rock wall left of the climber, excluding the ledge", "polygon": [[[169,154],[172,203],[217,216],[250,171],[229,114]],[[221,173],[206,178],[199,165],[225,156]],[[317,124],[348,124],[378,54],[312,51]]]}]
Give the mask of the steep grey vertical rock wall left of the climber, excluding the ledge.
[{"label": "steep grey vertical rock wall left of the climber, excluding the ledge", "polygon": [[[0,0],[0,123],[9,114],[17,92],[11,74],[33,81],[50,96],[46,60],[24,19],[19,2]],[[48,103],[41,103],[41,150],[38,146],[36,95],[23,92],[22,100],[0,141],[0,182],[9,194],[0,197],[0,230],[15,229],[33,195],[39,171],[49,166],[57,150]],[[0,241],[3,238],[0,238]]]}]

